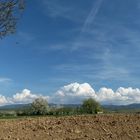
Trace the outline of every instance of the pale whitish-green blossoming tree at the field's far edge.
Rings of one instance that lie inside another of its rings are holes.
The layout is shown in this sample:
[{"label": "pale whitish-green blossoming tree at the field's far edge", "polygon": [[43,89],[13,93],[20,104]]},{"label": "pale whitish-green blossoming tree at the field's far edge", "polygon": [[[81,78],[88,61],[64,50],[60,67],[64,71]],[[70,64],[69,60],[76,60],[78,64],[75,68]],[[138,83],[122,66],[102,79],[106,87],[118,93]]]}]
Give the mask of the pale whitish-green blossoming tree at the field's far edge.
[{"label": "pale whitish-green blossoming tree at the field's far edge", "polygon": [[46,99],[37,98],[31,104],[33,115],[45,115],[49,110],[48,102]]}]

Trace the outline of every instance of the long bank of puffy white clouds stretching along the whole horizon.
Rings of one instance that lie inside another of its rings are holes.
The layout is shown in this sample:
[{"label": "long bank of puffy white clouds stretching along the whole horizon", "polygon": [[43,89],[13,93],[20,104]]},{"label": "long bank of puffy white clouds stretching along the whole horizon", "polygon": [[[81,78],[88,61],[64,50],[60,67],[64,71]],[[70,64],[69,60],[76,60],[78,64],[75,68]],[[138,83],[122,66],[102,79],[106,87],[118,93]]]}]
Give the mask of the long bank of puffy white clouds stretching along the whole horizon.
[{"label": "long bank of puffy white clouds stretching along the whole horizon", "polygon": [[31,103],[34,99],[43,97],[49,103],[57,104],[79,104],[84,99],[94,98],[101,104],[127,105],[140,103],[140,89],[120,87],[116,91],[102,87],[97,92],[88,83],[71,83],[61,87],[52,96],[34,94],[28,89],[16,93],[11,98],[0,95],[0,105],[15,103]]}]

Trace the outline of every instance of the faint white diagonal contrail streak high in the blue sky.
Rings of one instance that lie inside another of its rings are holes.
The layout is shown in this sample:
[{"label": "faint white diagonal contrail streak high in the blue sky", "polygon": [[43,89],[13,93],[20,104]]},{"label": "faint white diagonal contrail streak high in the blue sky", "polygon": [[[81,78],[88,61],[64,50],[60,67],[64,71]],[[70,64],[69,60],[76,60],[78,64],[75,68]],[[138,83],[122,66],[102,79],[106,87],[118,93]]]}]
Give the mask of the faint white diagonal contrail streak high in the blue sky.
[{"label": "faint white diagonal contrail streak high in the blue sky", "polygon": [[93,4],[92,9],[84,22],[82,32],[85,32],[86,29],[91,25],[91,23],[93,23],[93,21],[96,18],[96,15],[98,14],[98,11],[99,11],[101,5],[102,5],[102,2],[103,2],[103,0],[96,0],[96,3]]}]

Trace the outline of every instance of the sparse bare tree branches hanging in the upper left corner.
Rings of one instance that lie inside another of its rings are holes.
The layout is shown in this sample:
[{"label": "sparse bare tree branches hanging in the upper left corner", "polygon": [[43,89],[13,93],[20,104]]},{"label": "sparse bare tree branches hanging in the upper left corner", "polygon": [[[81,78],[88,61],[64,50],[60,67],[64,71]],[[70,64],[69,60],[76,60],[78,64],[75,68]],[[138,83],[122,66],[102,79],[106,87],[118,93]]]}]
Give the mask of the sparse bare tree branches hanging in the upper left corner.
[{"label": "sparse bare tree branches hanging in the upper left corner", "polygon": [[25,0],[0,1],[0,38],[16,31],[18,16],[25,8]]}]

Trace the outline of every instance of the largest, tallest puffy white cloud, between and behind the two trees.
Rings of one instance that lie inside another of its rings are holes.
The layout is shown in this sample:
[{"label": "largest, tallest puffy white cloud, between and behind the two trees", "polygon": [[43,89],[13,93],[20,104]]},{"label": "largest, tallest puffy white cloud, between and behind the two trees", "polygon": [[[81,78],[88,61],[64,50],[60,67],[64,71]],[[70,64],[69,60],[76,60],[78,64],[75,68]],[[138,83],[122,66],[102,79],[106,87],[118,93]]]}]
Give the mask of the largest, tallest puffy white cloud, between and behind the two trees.
[{"label": "largest, tallest puffy white cloud, between and behind the two trees", "polygon": [[85,98],[96,98],[94,89],[88,84],[72,83],[62,87],[51,98],[52,102],[66,103],[81,103]]}]

